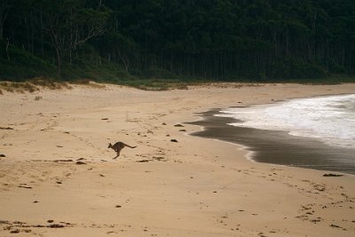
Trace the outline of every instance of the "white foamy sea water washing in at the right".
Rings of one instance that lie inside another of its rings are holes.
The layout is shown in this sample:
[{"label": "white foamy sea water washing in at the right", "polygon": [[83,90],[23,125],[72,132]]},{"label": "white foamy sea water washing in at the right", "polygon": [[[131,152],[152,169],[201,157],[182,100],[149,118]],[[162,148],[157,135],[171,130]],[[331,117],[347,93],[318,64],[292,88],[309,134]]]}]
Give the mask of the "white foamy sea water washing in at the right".
[{"label": "white foamy sea water washing in at the right", "polygon": [[355,94],[232,107],[217,116],[236,119],[229,124],[237,127],[281,130],[292,136],[316,138],[329,146],[355,148]]}]

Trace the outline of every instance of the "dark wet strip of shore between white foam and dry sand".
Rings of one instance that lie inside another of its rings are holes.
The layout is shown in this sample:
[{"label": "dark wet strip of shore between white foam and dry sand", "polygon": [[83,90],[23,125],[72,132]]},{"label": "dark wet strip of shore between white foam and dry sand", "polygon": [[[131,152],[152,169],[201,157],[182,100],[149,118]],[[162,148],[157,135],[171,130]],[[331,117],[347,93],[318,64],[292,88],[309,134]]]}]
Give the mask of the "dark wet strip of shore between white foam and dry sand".
[{"label": "dark wet strip of shore between white foam and dry sand", "polygon": [[238,121],[214,116],[219,114],[218,111],[202,113],[199,115],[203,118],[201,121],[186,122],[204,127],[204,130],[192,135],[247,146],[249,151],[254,152],[251,159],[256,162],[355,174],[355,149],[328,146],[319,140],[291,136],[284,131],[228,125]]}]

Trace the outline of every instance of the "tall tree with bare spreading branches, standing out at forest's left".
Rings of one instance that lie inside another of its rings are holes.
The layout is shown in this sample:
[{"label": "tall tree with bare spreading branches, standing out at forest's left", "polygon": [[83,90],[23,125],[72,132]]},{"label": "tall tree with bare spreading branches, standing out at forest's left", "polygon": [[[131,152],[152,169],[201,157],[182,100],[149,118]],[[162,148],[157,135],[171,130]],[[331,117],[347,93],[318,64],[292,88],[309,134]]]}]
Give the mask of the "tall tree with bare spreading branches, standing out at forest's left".
[{"label": "tall tree with bare spreading branches, standing out at forest's left", "polygon": [[105,32],[110,11],[102,5],[98,9],[85,8],[82,0],[43,0],[39,7],[43,30],[50,35],[56,52],[60,76],[63,59],[69,51]]}]

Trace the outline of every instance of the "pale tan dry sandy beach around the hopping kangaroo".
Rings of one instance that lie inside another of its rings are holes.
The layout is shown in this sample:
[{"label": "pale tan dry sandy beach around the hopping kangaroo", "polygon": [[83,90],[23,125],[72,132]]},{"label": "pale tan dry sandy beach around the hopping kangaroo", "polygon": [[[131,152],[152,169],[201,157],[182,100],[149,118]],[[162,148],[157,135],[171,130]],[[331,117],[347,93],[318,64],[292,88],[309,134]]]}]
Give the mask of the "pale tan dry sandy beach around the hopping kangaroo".
[{"label": "pale tan dry sandy beach around the hopping kangaroo", "polygon": [[[355,84],[106,84],[0,95],[0,236],[354,236],[355,176],[251,162],[189,136],[212,108]],[[122,141],[119,158],[108,143]]]}]

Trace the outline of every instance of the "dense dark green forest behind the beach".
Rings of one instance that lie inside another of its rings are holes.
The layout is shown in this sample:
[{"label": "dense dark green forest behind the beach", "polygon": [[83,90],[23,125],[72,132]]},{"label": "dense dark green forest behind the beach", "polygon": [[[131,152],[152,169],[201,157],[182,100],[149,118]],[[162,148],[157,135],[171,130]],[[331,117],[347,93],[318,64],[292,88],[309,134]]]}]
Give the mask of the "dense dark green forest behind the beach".
[{"label": "dense dark green forest behind the beach", "polygon": [[0,0],[1,80],[354,74],[354,0]]}]

